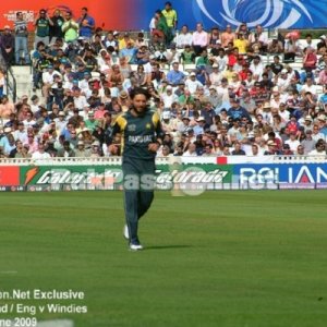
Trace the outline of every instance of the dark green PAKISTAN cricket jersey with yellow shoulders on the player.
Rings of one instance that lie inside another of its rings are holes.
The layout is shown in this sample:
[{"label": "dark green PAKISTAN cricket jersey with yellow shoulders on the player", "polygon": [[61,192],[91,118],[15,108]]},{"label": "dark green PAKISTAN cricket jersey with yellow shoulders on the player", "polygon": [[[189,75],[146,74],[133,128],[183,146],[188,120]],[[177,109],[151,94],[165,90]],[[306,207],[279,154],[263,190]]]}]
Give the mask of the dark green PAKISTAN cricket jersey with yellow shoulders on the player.
[{"label": "dark green PAKISTAN cricket jersey with yellow shoulders on the player", "polygon": [[122,156],[144,160],[156,157],[148,145],[164,134],[159,114],[150,109],[143,117],[134,117],[130,111],[120,114],[112,131],[113,135],[117,133],[122,134]]}]

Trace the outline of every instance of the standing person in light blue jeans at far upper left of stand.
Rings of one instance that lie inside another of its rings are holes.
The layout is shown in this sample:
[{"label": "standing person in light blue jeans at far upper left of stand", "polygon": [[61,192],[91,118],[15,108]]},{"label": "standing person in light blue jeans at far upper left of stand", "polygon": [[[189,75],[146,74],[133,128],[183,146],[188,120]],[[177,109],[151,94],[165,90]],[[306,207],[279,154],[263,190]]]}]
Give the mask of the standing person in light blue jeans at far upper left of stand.
[{"label": "standing person in light blue jeans at far upper left of stand", "polygon": [[15,63],[21,63],[21,51],[24,53],[24,63],[29,64],[29,52],[27,47],[27,22],[24,20],[21,11],[16,12],[16,20],[14,22],[15,32]]}]

